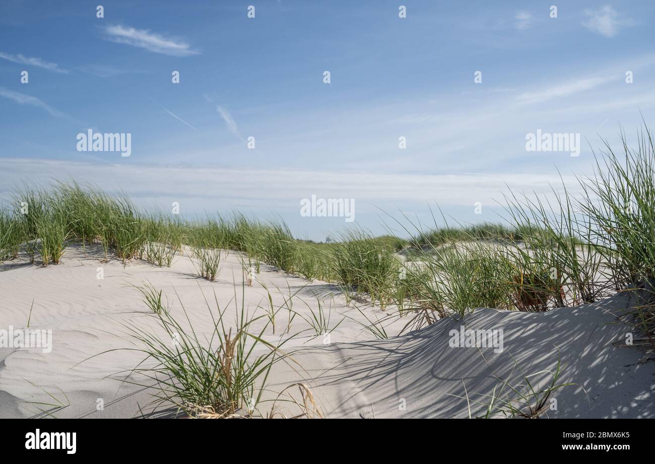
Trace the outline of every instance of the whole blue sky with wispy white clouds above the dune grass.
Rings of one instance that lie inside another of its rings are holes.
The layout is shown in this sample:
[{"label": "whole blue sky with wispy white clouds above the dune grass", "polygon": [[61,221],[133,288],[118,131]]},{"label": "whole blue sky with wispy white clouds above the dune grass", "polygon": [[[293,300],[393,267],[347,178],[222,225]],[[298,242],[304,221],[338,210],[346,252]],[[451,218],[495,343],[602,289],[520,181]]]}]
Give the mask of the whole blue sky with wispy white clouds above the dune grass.
[{"label": "whole blue sky with wispy white clouds above the dune grass", "polygon": [[[653,120],[651,1],[98,3],[0,5],[0,194],[73,177],[188,215],[275,211],[315,240],[345,223],[301,217],[312,194],[354,198],[374,232],[436,204],[494,221],[506,184],[574,185],[585,139]],[[88,129],[132,134],[132,155],[78,152]],[[527,152],[538,129],[581,134],[580,156]]]}]

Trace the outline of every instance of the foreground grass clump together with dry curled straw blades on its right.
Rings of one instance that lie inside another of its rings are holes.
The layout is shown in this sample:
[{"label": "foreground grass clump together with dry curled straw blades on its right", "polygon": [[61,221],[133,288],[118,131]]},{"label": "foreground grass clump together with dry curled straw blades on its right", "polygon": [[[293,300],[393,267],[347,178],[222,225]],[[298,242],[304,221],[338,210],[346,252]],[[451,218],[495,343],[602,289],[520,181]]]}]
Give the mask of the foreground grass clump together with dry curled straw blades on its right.
[{"label": "foreground grass clump together with dry curled straw blades on its right", "polygon": [[[212,303],[204,298],[214,326],[209,333],[196,332],[177,293],[181,313],[176,312],[174,316],[161,304],[161,291],[149,283],[135,287],[142,294],[143,302],[153,310],[161,330],[155,334],[128,327],[138,342],[136,351],[145,358],[130,370],[130,376],[123,382],[155,389],[150,404],[153,410],[172,405],[178,414],[197,419],[323,417],[305,384],[288,385],[270,398],[274,395],[268,384],[272,367],[278,361],[297,365],[281,350],[297,334],[286,340],[280,338],[276,344],[264,340],[270,321],[266,321],[266,315],[253,317],[248,313],[243,285],[240,298],[238,286],[234,286],[232,314],[230,304],[219,306],[215,293]],[[290,306],[289,310],[292,312]],[[265,323],[255,329],[259,319]],[[140,374],[141,378],[134,374]],[[291,393],[294,387],[298,387],[299,396]],[[263,399],[266,392],[269,399]],[[270,406],[264,409],[266,403]]]}]

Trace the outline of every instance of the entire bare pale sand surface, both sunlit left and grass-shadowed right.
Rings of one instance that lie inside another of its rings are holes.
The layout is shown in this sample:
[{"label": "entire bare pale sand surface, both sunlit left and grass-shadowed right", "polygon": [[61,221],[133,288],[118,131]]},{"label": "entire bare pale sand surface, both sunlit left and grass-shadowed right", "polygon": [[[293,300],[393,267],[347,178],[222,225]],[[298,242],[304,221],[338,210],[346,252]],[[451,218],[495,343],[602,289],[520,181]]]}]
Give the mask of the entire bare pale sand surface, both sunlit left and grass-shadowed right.
[{"label": "entire bare pale sand surface, both sunlit left and grass-shadowed right", "polygon": [[[209,333],[212,327],[205,297],[212,308],[214,293],[219,306],[233,307],[236,283],[236,301],[241,304],[242,264],[236,253],[223,259],[214,283],[195,276],[187,257],[171,268],[137,263],[123,267],[119,262],[100,263],[96,253],[71,248],[62,264],[47,268],[24,262],[0,265],[0,329],[26,327],[34,301],[30,328],[53,331],[51,353],[0,348],[0,417],[43,415],[43,410],[57,417],[149,413],[151,391],[124,384],[120,379],[126,374],[119,374],[143,359],[142,353],[125,349],[134,348],[130,329],[160,331],[130,284],[147,280],[163,289],[172,313],[182,315],[183,303],[200,332]],[[103,268],[102,280],[97,278],[98,267]],[[264,267],[257,277],[271,290],[275,306],[282,306],[291,291],[293,310],[306,317],[309,308],[316,310],[318,296],[324,306],[333,308],[331,325],[341,320],[339,314],[364,321],[331,285],[308,284]],[[264,313],[257,306],[267,304],[261,283],[244,289],[244,306],[252,314]],[[293,382],[307,382],[329,417],[465,417],[467,402],[458,398],[465,396],[464,385],[472,401],[483,400],[476,394],[490,394],[500,384],[498,378],[521,383],[516,365],[526,374],[553,369],[559,348],[561,382],[576,385],[557,392],[557,410],[550,411],[550,417],[654,417],[655,363],[641,364],[643,351],[612,344],[624,340],[627,331],[615,317],[624,306],[624,296],[615,296],[600,304],[548,313],[482,309],[468,315],[464,323],[469,329],[503,330],[502,353],[493,348],[450,348],[449,331],[462,325],[456,317],[388,340],[371,340],[358,323],[345,319],[327,346],[322,337],[312,338],[309,325],[295,317],[290,332],[301,333],[286,349],[302,368],[278,363],[269,387],[276,392]],[[364,311],[373,319],[384,315],[377,308]],[[234,311],[228,314],[233,317]],[[276,334],[269,330],[267,339],[280,339],[287,314],[278,313]],[[398,333],[404,323],[393,323],[388,332]],[[99,398],[102,411],[96,410]],[[61,402],[64,407],[33,402]],[[474,402],[472,408],[475,414]]]}]

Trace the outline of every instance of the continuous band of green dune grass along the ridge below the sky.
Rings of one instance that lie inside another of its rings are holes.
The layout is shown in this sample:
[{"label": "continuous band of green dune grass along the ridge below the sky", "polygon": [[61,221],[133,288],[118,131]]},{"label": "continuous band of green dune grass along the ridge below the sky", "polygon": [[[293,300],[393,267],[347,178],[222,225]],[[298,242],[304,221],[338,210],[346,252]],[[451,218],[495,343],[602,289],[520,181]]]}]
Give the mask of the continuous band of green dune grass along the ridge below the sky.
[{"label": "continuous band of green dune grass along the ridge below the sky", "polygon": [[[348,299],[364,294],[414,313],[411,328],[482,306],[538,312],[593,303],[655,279],[652,135],[645,128],[635,146],[623,136],[621,152],[605,142],[595,174],[578,179],[582,194],[565,186],[548,196],[510,192],[498,223],[453,227],[442,218],[445,226],[407,230],[410,240],[350,229],[319,244],[293,238],[280,219],[185,221],[74,182],[26,187],[0,209],[0,259],[22,251],[31,262],[57,264],[77,242],[100,243],[106,259],[170,266],[189,245],[198,274],[213,281],[220,250],[236,250],[257,272],[267,264],[335,283]],[[652,325],[645,330],[652,334]]]}]

